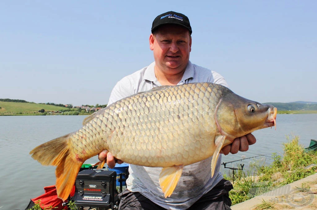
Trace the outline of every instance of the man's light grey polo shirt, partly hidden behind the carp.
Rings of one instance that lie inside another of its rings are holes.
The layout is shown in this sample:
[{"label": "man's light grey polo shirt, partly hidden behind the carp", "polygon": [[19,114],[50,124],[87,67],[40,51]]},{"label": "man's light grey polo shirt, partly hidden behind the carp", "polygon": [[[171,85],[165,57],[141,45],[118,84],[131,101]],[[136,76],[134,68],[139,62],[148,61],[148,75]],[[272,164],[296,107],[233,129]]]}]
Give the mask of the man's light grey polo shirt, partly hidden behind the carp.
[{"label": "man's light grey polo shirt, partly hidden behind the carp", "polygon": [[[140,91],[151,90],[161,84],[155,77],[155,62],[147,67],[122,78],[113,88],[108,104],[131,96]],[[224,78],[215,71],[210,71],[190,61],[183,78],[178,84],[211,82],[228,87]],[[215,175],[211,177],[211,159],[184,166],[182,176],[171,197],[165,198],[159,186],[159,174],[162,168],[144,167],[130,164],[127,189],[140,192],[154,203],[166,209],[187,209],[202,195],[210,191],[222,178],[219,172],[221,155],[218,158]]]}]

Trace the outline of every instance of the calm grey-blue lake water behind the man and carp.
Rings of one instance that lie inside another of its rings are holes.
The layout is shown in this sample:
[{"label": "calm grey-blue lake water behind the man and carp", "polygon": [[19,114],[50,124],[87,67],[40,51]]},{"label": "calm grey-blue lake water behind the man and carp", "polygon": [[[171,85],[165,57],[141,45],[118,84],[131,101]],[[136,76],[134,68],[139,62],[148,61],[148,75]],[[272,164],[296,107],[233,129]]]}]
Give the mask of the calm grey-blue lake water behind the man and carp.
[{"label": "calm grey-blue lake water behind the man and carp", "polygon": [[[30,198],[42,195],[44,186],[55,184],[55,167],[42,166],[29,151],[37,145],[81,127],[86,116],[1,116],[0,117],[0,209],[24,209]],[[282,152],[286,136],[300,136],[307,147],[317,139],[317,114],[278,114],[277,130],[266,128],[254,132],[257,143],[249,151],[223,157],[223,162]],[[270,161],[270,155],[263,156]],[[250,161],[249,159],[248,161]],[[96,163],[97,157],[86,163]],[[247,162],[247,160],[245,160]],[[228,166],[232,166],[228,165]]]}]

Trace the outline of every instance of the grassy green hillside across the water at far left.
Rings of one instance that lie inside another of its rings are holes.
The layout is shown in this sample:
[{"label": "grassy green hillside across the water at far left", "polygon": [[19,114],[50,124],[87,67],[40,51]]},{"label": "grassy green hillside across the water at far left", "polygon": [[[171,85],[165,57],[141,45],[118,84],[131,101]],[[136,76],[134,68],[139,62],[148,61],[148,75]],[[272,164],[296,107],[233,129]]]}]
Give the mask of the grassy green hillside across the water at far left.
[{"label": "grassy green hillside across the water at far left", "polygon": [[70,110],[66,107],[58,107],[47,104],[0,101],[0,115],[40,115],[43,114],[41,112],[38,112],[41,109],[44,109],[45,112]]}]

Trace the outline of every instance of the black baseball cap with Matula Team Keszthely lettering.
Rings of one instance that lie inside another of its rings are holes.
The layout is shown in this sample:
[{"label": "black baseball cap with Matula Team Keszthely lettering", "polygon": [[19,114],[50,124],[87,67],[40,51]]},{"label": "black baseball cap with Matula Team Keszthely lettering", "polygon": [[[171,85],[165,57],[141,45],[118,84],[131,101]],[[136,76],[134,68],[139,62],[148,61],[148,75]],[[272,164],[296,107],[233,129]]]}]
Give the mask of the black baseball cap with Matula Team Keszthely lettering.
[{"label": "black baseball cap with Matula Team Keszthely lettering", "polygon": [[168,24],[168,23],[184,26],[185,28],[189,30],[190,34],[192,33],[191,24],[189,23],[188,17],[182,13],[173,12],[173,11],[165,12],[161,15],[158,15],[152,23],[151,32],[153,33],[153,31],[157,29],[159,26]]}]

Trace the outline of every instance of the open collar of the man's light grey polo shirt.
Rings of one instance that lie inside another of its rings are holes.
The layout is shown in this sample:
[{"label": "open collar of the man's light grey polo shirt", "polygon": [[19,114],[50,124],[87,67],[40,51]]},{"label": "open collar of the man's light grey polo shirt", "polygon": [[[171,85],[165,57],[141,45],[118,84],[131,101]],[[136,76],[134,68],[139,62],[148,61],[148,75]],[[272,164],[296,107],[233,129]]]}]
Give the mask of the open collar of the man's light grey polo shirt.
[{"label": "open collar of the man's light grey polo shirt", "polygon": [[[151,81],[151,82],[156,82],[157,78],[155,77],[155,72],[154,72],[154,66],[155,66],[155,62],[151,63],[145,70],[144,72],[144,79]],[[188,64],[186,66],[184,75],[181,79],[181,81],[185,82],[185,80],[193,78],[195,74],[195,67],[194,65],[191,63],[191,61],[188,61]],[[180,81],[180,82],[181,82]]]}]

